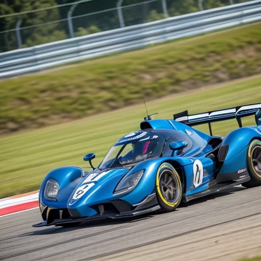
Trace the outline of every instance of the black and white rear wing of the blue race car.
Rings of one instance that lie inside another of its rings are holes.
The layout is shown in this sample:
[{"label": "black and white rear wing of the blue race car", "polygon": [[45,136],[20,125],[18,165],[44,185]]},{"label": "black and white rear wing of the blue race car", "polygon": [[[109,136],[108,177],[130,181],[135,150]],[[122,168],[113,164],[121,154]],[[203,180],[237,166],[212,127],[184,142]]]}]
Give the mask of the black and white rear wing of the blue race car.
[{"label": "black and white rear wing of the blue race car", "polygon": [[229,120],[236,118],[239,127],[242,127],[242,117],[255,115],[256,125],[261,125],[261,103],[251,105],[238,106],[235,108],[228,108],[224,110],[204,112],[199,114],[189,115],[188,111],[174,114],[174,120],[185,123],[189,126],[200,125],[208,123],[210,134],[212,135],[211,122]]}]

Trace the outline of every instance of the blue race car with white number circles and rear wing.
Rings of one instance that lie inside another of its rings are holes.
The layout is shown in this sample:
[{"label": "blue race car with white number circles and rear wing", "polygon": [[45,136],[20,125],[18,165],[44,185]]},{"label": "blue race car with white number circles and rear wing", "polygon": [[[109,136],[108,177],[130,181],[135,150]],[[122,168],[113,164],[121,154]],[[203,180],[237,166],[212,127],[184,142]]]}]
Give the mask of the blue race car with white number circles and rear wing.
[{"label": "blue race car with white number circles and rear wing", "polygon": [[[255,115],[256,126],[241,118]],[[239,128],[212,135],[211,122],[236,118]],[[210,135],[192,126],[207,123]],[[81,221],[121,218],[162,210],[242,184],[261,185],[261,103],[188,115],[174,120],[145,117],[141,130],[125,135],[93,171],[62,167],[50,171],[39,192],[43,222],[71,226]]]}]

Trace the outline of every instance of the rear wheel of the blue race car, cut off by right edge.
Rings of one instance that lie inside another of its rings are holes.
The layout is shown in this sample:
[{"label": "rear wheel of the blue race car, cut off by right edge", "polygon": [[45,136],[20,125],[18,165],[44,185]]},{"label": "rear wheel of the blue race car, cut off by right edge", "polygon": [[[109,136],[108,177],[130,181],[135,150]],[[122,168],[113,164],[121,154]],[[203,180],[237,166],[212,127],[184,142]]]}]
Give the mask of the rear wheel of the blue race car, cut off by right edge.
[{"label": "rear wheel of the blue race car, cut off by right edge", "polygon": [[251,179],[242,184],[245,188],[261,185],[261,141],[253,140],[247,152],[247,170]]}]

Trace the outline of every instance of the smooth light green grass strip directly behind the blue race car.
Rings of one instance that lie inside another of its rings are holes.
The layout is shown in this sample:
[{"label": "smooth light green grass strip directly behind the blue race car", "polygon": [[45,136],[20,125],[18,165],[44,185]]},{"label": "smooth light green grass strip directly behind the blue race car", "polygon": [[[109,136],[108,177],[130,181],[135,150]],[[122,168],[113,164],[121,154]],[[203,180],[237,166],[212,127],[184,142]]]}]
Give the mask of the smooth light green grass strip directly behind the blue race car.
[{"label": "smooth light green grass strip directly behind the blue race car", "polygon": [[[173,113],[188,109],[199,113],[260,102],[261,77],[231,82],[171,95],[147,102],[150,114],[172,118]],[[124,109],[90,116],[34,131],[0,138],[0,198],[33,191],[53,168],[63,165],[88,166],[84,154],[95,152],[97,166],[110,146],[121,136],[139,129],[145,116],[142,103]],[[253,124],[253,117],[243,123]],[[236,120],[213,124],[215,135],[225,135],[237,127]],[[206,131],[206,126],[200,129]]]}]

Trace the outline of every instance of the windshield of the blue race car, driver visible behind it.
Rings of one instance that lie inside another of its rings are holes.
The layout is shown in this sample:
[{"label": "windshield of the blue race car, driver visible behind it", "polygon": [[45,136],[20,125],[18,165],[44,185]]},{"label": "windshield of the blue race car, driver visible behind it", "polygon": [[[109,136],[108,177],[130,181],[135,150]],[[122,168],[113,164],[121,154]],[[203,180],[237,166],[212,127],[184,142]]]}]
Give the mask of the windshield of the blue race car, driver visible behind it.
[{"label": "windshield of the blue race car, driver visible behind it", "polygon": [[105,159],[99,165],[99,169],[128,167],[139,162],[158,158],[161,155],[164,137],[160,135],[153,135],[152,138],[148,136],[140,141],[124,140],[124,144],[115,143]]}]

